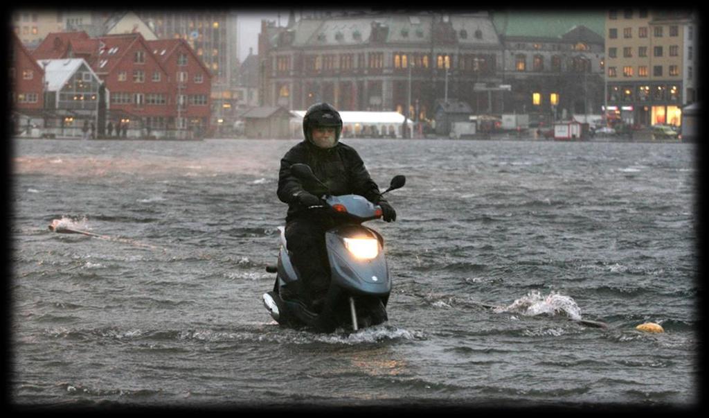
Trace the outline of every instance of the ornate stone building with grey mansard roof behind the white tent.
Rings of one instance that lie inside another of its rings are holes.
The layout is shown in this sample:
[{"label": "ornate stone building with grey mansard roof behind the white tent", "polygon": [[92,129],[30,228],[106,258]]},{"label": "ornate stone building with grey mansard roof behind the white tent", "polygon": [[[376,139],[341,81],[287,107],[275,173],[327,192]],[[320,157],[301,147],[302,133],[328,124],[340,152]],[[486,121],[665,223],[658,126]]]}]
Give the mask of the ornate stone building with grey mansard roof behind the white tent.
[{"label": "ornate stone building with grey mansard roof behind the white tent", "polygon": [[[430,119],[437,98],[475,97],[476,83],[501,82],[501,42],[487,13],[292,18],[286,28],[262,25],[264,104],[306,109],[329,101]],[[492,106],[500,109],[501,100]]]}]

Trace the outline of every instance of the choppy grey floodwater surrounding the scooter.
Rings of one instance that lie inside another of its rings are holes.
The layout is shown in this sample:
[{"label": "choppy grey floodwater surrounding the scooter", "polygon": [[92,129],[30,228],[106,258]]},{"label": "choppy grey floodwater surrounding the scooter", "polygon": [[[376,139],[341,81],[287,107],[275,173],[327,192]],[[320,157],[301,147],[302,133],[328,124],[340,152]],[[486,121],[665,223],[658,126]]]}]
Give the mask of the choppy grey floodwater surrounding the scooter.
[{"label": "choppy grey floodwater surrounding the scooter", "polygon": [[345,140],[407,177],[389,321],[313,334],[261,302],[296,141],[15,141],[13,405],[699,402],[696,145]]}]

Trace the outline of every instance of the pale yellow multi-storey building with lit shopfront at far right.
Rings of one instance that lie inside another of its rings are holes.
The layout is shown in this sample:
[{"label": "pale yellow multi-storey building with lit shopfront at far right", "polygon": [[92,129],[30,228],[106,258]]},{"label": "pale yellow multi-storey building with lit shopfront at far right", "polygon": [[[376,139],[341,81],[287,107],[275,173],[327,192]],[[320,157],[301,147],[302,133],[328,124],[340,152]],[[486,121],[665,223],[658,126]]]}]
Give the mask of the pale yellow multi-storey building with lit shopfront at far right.
[{"label": "pale yellow multi-storey building with lit shopfront at far right", "polygon": [[605,20],[608,118],[679,126],[697,100],[696,17],[689,11],[611,9]]}]

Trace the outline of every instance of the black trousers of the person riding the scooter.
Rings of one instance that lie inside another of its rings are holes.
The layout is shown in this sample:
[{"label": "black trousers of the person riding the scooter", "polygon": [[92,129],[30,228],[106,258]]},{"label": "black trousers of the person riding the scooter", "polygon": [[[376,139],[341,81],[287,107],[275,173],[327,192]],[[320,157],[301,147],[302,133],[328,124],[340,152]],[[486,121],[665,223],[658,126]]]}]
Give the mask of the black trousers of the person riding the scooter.
[{"label": "black trousers of the person riding the scooter", "polygon": [[286,246],[298,272],[298,297],[311,303],[330,286],[330,263],[325,251],[325,231],[334,226],[328,216],[297,218],[286,223]]}]

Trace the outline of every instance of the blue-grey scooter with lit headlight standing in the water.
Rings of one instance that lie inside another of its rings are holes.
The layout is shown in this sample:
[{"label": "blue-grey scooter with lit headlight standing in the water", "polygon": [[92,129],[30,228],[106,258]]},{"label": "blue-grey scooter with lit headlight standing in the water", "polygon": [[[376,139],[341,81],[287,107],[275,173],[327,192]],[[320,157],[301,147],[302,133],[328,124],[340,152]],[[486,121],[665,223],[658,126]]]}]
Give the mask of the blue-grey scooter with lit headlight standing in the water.
[{"label": "blue-grey scooter with lit headlight standing in the water", "polygon": [[[291,165],[291,173],[299,180],[325,186],[306,164]],[[406,177],[396,175],[381,194],[405,183]],[[287,250],[284,226],[279,226],[278,263],[266,268],[267,272],[276,273],[276,282],[274,289],[262,296],[264,307],[281,326],[325,333],[338,328],[357,331],[387,321],[391,277],[384,256],[384,238],[362,226],[364,221],[381,218],[381,207],[357,194],[333,196],[329,189],[322,199],[325,204],[308,209],[325,209],[328,216],[337,218],[337,226],[325,232],[330,288],[323,309],[320,314],[311,312],[292,296],[297,294],[300,279]]]}]

